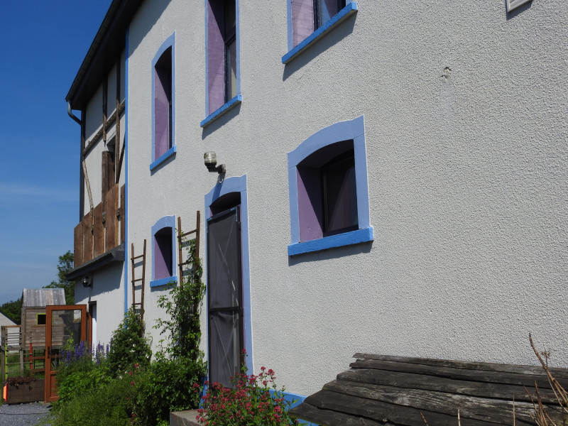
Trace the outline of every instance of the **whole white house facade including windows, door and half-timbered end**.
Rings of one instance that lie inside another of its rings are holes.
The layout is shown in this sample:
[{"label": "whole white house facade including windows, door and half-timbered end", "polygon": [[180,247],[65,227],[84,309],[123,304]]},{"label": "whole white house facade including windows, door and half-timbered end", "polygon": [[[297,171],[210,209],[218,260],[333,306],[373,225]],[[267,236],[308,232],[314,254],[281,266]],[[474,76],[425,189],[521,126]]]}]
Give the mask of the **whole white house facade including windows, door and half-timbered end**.
[{"label": "whole white house facade including windows, door and half-timbered end", "polygon": [[529,332],[568,366],[567,20],[559,0],[113,1],[67,95],[91,246],[105,152],[124,185],[124,234],[73,272],[97,339],[146,240],[158,345],[199,211],[212,380],[242,350],[299,395],[356,352],[535,364]]}]

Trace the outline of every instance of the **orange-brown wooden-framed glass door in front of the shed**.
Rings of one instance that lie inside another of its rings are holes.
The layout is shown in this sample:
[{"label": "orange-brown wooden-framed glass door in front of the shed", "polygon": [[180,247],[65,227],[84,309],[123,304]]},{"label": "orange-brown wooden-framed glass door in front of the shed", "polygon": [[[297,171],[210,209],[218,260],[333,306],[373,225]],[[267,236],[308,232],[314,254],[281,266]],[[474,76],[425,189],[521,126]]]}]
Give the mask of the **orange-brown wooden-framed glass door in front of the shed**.
[{"label": "orange-brown wooden-framed glass door in front of the shed", "polygon": [[44,400],[58,399],[57,371],[63,349],[73,349],[87,339],[87,305],[53,305],[45,309]]}]

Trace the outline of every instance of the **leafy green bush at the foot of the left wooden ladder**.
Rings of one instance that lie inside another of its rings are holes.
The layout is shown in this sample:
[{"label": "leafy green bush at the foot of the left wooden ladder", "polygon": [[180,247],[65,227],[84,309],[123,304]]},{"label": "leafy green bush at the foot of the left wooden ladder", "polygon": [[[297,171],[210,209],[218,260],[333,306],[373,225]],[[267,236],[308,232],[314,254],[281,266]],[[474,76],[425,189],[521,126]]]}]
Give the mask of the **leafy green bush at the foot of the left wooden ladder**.
[{"label": "leafy green bush at the foot of the left wooden ladder", "polygon": [[150,364],[152,351],[144,336],[144,324],[140,315],[131,307],[119,327],[112,333],[111,349],[107,362],[109,372],[116,377],[131,370],[134,364],[142,368]]}]

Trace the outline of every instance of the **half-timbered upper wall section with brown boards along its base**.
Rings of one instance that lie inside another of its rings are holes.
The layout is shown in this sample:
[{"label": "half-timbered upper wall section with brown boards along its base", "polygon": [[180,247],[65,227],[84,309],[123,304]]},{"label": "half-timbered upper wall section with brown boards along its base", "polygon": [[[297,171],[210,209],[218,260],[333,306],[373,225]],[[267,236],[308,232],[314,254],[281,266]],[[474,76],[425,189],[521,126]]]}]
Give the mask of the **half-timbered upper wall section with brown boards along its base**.
[{"label": "half-timbered upper wall section with brown boards along its base", "polygon": [[75,226],[75,268],[124,243],[124,53],[82,114],[81,220]]}]

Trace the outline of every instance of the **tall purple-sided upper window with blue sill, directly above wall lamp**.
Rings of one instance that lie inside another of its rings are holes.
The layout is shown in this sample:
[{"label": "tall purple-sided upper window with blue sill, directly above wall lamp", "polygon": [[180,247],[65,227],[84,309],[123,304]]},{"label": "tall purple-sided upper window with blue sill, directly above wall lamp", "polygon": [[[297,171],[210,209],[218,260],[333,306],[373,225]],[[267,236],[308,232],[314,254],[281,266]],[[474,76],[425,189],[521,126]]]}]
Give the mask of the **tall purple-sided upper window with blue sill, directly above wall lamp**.
[{"label": "tall purple-sided upper window with blue sill, directly above wall lamp", "polygon": [[239,13],[236,0],[207,1],[207,119],[217,118],[239,96]]}]

